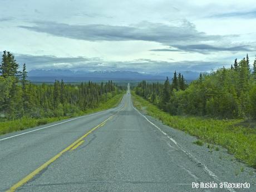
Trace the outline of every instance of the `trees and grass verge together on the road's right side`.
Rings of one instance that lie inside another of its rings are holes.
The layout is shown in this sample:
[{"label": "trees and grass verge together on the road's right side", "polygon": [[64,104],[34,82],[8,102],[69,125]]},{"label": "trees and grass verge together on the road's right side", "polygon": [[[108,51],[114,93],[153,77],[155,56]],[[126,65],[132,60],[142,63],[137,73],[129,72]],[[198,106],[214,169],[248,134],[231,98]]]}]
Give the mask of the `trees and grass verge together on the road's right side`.
[{"label": "trees and grass verge together on the road's right side", "polygon": [[[164,84],[142,81],[134,88],[134,105],[166,125],[222,145],[256,168],[256,59],[248,55],[230,68],[201,74],[186,85],[176,72]],[[201,142],[196,144],[201,145]]]}]

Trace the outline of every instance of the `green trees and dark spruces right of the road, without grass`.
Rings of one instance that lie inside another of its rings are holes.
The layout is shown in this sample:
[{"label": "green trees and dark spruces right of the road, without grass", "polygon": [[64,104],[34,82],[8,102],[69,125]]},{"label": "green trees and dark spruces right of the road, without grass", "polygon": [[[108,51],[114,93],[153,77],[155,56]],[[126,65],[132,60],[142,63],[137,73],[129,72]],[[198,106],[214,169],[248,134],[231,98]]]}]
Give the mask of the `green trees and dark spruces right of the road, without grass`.
[{"label": "green trees and dark spruces right of the road, without grass", "polygon": [[171,83],[142,81],[135,92],[171,115],[256,119],[256,58],[252,67],[247,55],[230,68],[200,73],[189,85],[175,71]]}]

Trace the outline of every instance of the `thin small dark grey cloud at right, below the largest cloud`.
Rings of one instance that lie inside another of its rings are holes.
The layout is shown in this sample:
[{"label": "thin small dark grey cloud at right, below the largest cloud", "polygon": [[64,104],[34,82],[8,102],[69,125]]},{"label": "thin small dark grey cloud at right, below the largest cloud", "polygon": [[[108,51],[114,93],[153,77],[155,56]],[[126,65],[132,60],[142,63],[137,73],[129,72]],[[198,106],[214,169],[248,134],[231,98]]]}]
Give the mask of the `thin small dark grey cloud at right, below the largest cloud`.
[{"label": "thin small dark grey cloud at right, below the largest cloud", "polygon": [[232,51],[232,52],[238,52],[238,51],[255,51],[255,49],[251,48],[247,45],[242,46],[233,46],[233,47],[216,47],[206,44],[198,44],[198,45],[173,45],[172,47],[177,49],[156,49],[156,50],[150,50],[150,51],[188,51],[188,52],[200,52],[200,53],[209,53],[211,51]]}]

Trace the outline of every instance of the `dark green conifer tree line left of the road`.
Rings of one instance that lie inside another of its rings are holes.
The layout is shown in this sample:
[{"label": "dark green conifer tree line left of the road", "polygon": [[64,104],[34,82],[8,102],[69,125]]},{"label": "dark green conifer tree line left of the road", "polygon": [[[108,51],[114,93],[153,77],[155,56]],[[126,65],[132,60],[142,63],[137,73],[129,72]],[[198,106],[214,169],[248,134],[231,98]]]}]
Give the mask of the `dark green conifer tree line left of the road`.
[{"label": "dark green conifer tree line left of the road", "polygon": [[26,64],[19,65],[12,53],[4,51],[0,65],[0,119],[23,116],[41,118],[81,114],[99,106],[120,89],[112,82],[71,85],[55,81],[53,85],[35,85],[27,80]]}]

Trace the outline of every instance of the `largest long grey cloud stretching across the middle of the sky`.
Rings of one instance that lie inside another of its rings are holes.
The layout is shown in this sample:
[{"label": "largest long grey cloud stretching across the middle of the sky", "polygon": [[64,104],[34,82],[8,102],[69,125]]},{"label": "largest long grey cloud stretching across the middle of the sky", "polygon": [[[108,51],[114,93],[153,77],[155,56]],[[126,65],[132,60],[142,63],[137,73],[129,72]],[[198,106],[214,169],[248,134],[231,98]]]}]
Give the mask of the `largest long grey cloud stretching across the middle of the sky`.
[{"label": "largest long grey cloud stretching across the middle of the sky", "polygon": [[178,42],[219,40],[221,36],[198,32],[193,23],[184,21],[181,26],[141,22],[130,26],[106,24],[71,25],[56,22],[35,22],[35,26],[19,26],[31,31],[54,36],[88,41],[154,41],[170,45]]}]

